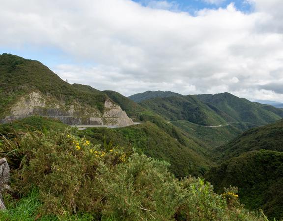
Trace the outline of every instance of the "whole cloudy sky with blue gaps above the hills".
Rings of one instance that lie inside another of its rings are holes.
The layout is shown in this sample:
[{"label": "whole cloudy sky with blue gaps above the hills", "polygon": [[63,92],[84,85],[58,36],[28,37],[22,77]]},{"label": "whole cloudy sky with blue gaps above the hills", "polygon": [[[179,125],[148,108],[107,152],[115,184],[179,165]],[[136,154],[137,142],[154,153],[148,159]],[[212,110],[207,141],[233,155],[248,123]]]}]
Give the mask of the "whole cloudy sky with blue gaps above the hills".
[{"label": "whole cloudy sky with blue gaps above the hills", "polygon": [[283,101],[283,0],[0,0],[0,30],[69,83]]}]

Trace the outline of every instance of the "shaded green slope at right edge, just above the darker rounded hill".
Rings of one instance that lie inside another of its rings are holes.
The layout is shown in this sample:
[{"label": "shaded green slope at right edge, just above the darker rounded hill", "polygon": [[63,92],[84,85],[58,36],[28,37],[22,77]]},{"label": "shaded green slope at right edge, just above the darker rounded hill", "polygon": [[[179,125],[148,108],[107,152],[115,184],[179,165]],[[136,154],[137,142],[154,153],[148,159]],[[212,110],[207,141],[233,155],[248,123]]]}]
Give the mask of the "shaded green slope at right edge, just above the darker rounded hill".
[{"label": "shaded green slope at right edge, just above the darker rounded hill", "polygon": [[283,120],[250,129],[226,145],[217,147],[214,153],[219,161],[223,161],[260,149],[283,152]]}]

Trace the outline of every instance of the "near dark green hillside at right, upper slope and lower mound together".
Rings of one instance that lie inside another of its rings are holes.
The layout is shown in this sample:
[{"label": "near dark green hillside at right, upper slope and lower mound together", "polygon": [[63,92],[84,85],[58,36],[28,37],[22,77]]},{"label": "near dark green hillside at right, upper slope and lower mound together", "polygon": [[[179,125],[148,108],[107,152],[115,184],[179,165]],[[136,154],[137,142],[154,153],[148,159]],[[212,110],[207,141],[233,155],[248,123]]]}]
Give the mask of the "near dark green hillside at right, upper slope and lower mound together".
[{"label": "near dark green hillside at right, upper slope and lower mound together", "polygon": [[250,129],[213,153],[220,165],[205,178],[218,193],[237,186],[247,208],[283,217],[283,120]]}]

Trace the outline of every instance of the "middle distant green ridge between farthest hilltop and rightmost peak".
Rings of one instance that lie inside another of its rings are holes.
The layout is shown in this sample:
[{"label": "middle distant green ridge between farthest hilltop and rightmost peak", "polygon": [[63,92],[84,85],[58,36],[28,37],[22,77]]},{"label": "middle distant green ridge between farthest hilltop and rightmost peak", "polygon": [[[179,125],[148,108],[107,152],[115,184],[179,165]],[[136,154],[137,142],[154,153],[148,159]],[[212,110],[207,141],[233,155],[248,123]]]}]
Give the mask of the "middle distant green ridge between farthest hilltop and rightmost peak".
[{"label": "middle distant green ridge between farthest hilltop and rightmost peak", "polygon": [[142,101],[141,106],[154,111],[168,120],[187,120],[201,125],[226,123],[219,114],[197,98],[182,97],[151,98]]}]

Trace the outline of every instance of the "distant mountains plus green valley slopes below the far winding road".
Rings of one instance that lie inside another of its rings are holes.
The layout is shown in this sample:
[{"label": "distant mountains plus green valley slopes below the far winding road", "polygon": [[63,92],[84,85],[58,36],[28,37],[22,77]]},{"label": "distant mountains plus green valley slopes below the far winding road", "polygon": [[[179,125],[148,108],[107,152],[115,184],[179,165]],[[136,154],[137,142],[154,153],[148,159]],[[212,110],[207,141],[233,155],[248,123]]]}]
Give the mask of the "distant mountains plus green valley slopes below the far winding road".
[{"label": "distant mountains plus green valley slopes below the far winding road", "polygon": [[283,111],[229,93],[156,97],[139,103],[208,148],[223,145],[243,131],[275,122]]}]

